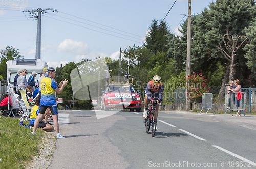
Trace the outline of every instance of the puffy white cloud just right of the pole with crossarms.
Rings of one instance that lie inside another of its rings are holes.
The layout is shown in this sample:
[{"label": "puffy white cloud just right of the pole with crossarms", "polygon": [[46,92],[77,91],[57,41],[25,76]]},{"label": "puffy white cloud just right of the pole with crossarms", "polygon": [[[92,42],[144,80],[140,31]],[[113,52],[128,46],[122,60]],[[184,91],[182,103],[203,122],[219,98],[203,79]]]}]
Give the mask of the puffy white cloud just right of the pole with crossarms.
[{"label": "puffy white cloud just right of the pole with crossarms", "polygon": [[72,52],[79,55],[89,54],[90,50],[86,43],[72,39],[65,39],[58,45],[58,52]]}]

